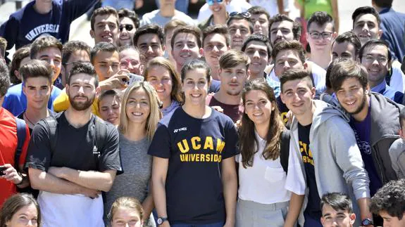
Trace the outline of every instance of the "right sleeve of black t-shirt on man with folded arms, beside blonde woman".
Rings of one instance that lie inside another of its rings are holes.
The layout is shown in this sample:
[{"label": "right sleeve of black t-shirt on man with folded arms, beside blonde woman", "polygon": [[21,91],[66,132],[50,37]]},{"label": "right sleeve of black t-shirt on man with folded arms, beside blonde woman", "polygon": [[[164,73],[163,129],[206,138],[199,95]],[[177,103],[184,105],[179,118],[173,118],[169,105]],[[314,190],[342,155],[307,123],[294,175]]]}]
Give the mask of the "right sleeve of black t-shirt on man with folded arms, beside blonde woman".
[{"label": "right sleeve of black t-shirt on man with folded arms, beside blonde woman", "polygon": [[99,171],[117,170],[118,174],[123,170],[120,160],[120,146],[118,130],[111,124],[107,124],[107,138],[101,150]]}]

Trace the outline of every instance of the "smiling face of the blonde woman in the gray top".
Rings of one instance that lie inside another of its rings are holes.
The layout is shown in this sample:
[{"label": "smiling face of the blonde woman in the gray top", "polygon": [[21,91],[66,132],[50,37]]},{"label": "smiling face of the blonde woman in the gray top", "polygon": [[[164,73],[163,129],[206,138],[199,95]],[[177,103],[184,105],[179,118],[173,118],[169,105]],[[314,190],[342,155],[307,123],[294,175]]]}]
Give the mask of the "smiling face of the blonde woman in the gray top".
[{"label": "smiling face of the blonde woman in the gray top", "polygon": [[142,88],[130,93],[127,100],[126,111],[129,122],[146,124],[151,112],[151,103],[147,92]]}]

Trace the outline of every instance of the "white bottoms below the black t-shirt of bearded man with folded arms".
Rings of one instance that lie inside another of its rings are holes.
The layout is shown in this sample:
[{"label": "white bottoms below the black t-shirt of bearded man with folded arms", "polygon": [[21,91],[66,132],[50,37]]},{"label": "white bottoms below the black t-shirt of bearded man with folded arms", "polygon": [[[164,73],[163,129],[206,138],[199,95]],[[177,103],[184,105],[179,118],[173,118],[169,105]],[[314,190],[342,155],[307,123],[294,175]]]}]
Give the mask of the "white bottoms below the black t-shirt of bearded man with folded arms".
[{"label": "white bottoms below the black t-shirt of bearded man with folded arms", "polygon": [[103,198],[85,195],[63,195],[41,191],[38,204],[42,227],[104,227]]}]

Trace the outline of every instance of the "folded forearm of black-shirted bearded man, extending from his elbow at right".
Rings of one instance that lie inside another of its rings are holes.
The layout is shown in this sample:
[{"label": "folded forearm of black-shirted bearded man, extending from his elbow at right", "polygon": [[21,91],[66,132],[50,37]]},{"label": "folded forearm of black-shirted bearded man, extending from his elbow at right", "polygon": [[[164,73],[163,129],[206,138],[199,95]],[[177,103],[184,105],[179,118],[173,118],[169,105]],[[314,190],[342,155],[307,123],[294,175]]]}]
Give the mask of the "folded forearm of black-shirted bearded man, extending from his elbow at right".
[{"label": "folded forearm of black-shirted bearded man, extending from his elbow at right", "polygon": [[63,167],[62,171],[61,178],[85,188],[102,190],[104,192],[108,192],[111,189],[115,177],[115,174],[111,176],[108,172],[80,171],[67,167]]}]

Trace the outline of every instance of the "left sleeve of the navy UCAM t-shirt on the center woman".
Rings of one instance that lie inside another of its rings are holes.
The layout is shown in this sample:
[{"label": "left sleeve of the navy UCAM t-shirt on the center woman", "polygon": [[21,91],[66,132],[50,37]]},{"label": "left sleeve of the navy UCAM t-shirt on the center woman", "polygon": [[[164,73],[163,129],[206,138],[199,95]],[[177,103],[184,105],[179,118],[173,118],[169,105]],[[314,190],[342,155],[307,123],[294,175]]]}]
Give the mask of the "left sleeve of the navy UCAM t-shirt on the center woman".
[{"label": "left sleeve of the navy UCAM t-shirt on the center woman", "polygon": [[168,128],[159,123],[154,134],[148,154],[151,156],[169,158],[170,157],[170,134]]}]

